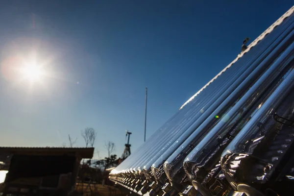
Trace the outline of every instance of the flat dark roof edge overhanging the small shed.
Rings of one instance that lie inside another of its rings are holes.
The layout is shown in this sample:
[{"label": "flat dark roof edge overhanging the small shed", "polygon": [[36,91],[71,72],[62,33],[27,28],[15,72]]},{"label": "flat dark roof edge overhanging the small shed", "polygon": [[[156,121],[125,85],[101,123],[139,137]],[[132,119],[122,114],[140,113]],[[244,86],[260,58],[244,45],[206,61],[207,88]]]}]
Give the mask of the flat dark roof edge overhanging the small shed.
[{"label": "flat dark roof edge overhanging the small shed", "polygon": [[0,147],[0,153],[41,156],[68,155],[90,159],[93,157],[94,147]]}]

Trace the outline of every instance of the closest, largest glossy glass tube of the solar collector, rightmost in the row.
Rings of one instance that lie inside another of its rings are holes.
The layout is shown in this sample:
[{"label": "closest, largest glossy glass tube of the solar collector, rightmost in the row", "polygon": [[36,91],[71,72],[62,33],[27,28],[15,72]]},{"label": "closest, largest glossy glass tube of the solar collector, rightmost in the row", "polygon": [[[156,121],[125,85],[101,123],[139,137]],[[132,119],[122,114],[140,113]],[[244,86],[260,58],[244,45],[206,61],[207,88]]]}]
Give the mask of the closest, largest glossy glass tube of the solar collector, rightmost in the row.
[{"label": "closest, largest glossy glass tube of the solar collector, rightmost in the row", "polygon": [[[293,118],[294,70],[289,71],[282,80],[283,82],[271,94],[270,98],[221,155],[221,168],[227,180],[236,190],[238,184],[263,184],[266,187],[270,178],[278,180],[280,178],[278,176],[283,172],[274,174],[274,171],[279,167],[280,160],[285,161],[292,157],[292,150],[289,151],[291,149],[289,147],[293,142],[294,128],[274,121],[272,115],[278,113],[283,117]],[[282,136],[280,136],[281,134]],[[283,134],[285,135],[283,136]],[[290,154],[287,154],[287,151]],[[286,166],[287,162],[284,163]],[[250,166],[249,171],[248,166]],[[284,173],[287,172],[286,170]],[[289,178],[283,180],[284,182],[281,182],[286,186],[288,183],[293,183]],[[283,189],[285,191],[285,187],[283,188],[282,184],[277,182],[274,185],[278,185],[280,188],[275,188],[281,192]],[[270,188],[274,185],[268,184],[267,186]]]}]

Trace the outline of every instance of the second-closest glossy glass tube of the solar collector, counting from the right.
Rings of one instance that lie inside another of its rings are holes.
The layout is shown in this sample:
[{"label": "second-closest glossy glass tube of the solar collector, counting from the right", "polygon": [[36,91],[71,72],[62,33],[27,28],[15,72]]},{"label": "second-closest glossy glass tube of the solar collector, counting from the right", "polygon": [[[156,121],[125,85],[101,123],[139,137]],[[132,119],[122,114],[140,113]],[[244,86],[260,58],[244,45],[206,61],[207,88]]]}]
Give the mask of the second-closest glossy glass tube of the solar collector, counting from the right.
[{"label": "second-closest glossy glass tube of the solar collector, counting from the right", "polygon": [[[292,42],[293,37],[294,32],[288,36],[289,39],[292,39]],[[285,39],[284,43],[289,43],[289,39]],[[283,45],[283,42],[281,45]],[[195,149],[192,150],[191,153],[186,157],[186,160],[184,161],[184,167],[188,177],[191,180],[202,182],[205,177],[204,173],[208,174],[208,172],[210,172],[210,170],[207,170],[206,168],[211,168],[217,164],[218,160],[220,159],[221,151],[230,142],[227,135],[228,132],[230,131],[229,135],[236,135],[238,133],[236,130],[240,130],[241,127],[246,124],[251,116],[253,116],[254,113],[267,100],[267,96],[271,94],[270,92],[266,92],[267,89],[269,89],[269,87],[270,89],[273,88],[271,87],[272,83],[274,83],[276,78],[282,74],[282,71],[289,64],[289,62],[293,60],[293,51],[294,44],[288,47],[288,49],[286,49],[274,61],[270,68],[265,73],[263,73],[257,81],[255,81],[253,86],[250,86],[246,94],[240,98],[228,112],[223,115],[221,122],[214,126],[207,136],[204,137],[195,147]],[[276,52],[275,54],[279,55],[279,53]],[[246,80],[247,79],[249,78],[246,78]],[[246,83],[246,80],[244,83]],[[266,93],[267,96],[265,96],[264,93]],[[232,95],[233,94],[234,93],[232,93]],[[240,123],[240,120],[243,119],[245,121],[241,121],[242,123]],[[231,130],[235,130],[234,133]]]}]

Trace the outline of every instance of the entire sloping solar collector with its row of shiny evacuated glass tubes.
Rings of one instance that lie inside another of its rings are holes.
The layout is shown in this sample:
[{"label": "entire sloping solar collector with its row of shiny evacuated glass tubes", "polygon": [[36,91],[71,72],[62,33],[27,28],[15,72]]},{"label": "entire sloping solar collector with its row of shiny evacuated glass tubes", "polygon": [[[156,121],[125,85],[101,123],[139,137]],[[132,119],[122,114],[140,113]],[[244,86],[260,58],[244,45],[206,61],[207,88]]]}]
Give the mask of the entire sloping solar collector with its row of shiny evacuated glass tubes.
[{"label": "entire sloping solar collector with its row of shiny evacuated glass tubes", "polygon": [[110,173],[138,195],[294,193],[294,7]]}]

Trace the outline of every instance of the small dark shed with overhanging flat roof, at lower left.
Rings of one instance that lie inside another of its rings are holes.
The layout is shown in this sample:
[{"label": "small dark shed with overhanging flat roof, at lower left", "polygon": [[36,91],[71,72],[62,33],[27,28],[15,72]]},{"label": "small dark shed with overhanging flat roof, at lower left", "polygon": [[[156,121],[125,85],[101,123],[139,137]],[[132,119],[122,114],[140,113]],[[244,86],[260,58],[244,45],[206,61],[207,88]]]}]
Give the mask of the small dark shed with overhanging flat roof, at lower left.
[{"label": "small dark shed with overhanging flat roof, at lower left", "polygon": [[0,147],[10,156],[3,196],[66,196],[74,189],[81,159],[94,148]]}]

